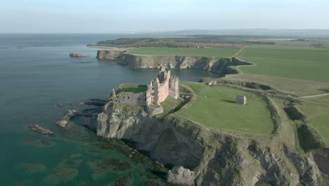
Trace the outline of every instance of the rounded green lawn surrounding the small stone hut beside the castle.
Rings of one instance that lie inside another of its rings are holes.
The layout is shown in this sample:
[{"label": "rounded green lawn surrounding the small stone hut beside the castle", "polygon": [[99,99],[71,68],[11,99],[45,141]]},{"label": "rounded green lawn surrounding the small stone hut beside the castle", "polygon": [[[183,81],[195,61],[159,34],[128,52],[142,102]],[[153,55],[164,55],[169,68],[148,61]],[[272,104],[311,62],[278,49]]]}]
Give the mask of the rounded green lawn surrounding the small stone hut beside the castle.
[{"label": "rounded green lawn surrounding the small stone hut beside the castle", "polygon": [[[196,101],[177,115],[212,128],[271,134],[274,123],[264,98],[242,89],[198,82],[181,82],[197,94]],[[236,95],[245,95],[247,104],[236,104]]]}]

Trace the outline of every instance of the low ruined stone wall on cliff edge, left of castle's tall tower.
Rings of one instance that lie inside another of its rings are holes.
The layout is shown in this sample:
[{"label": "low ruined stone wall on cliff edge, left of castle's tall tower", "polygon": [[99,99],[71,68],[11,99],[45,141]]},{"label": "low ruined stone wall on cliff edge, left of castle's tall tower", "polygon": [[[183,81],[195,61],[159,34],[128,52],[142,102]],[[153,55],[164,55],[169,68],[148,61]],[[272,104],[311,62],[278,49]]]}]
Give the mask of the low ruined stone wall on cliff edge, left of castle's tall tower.
[{"label": "low ruined stone wall on cliff edge, left of castle's tall tower", "polygon": [[112,98],[113,101],[122,104],[146,106],[146,92],[131,93],[123,92]]}]

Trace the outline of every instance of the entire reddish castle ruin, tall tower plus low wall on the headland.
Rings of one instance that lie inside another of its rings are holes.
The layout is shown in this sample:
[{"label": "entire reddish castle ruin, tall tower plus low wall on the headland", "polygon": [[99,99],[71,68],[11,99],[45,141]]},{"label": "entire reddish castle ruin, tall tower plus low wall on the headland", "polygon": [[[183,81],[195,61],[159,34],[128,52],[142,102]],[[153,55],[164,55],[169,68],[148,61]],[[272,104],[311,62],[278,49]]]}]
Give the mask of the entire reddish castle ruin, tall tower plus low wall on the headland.
[{"label": "entire reddish castle ruin, tall tower plus low wall on the headland", "polygon": [[[120,89],[118,91],[120,91]],[[122,92],[124,92],[124,90]],[[171,70],[166,70],[164,67],[161,67],[159,75],[147,85],[146,92],[120,93],[121,92],[117,94],[115,89],[113,89],[112,101],[148,107],[160,105],[168,96],[174,99],[179,98],[179,77],[171,75]]]}]

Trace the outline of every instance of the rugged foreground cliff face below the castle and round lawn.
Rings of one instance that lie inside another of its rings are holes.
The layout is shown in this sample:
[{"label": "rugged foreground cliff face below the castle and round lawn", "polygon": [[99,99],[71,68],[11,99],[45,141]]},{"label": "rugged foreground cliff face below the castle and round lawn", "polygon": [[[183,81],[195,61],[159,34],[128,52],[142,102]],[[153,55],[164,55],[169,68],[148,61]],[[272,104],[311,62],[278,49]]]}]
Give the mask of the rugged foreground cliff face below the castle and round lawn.
[{"label": "rugged foreground cliff face below the castle and round lawn", "polygon": [[157,120],[140,106],[113,102],[98,116],[97,135],[135,142],[136,149],[172,167],[169,182],[182,185],[328,185],[311,152],[297,151],[275,135],[232,135],[173,114]]}]

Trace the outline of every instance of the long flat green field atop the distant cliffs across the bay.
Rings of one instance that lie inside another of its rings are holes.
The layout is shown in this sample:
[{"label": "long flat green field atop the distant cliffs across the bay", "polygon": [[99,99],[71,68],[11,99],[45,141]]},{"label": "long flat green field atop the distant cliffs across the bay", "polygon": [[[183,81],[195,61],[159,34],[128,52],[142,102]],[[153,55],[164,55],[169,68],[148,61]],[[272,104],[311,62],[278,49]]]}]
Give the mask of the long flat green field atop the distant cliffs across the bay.
[{"label": "long flat green field atop the distant cliffs across the bay", "polygon": [[216,56],[230,57],[233,56],[239,49],[228,48],[137,48],[129,51],[130,54],[146,54],[146,55],[169,55],[169,56]]}]

